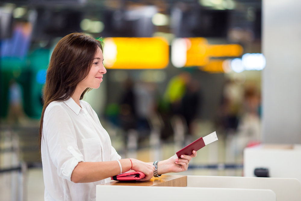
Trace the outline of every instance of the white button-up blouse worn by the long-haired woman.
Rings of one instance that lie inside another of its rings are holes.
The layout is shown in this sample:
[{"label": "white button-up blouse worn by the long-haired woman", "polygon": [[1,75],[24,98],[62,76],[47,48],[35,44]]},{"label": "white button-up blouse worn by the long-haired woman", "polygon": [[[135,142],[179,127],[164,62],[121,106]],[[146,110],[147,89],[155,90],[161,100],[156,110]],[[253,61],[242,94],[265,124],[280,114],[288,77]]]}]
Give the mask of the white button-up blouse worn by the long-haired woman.
[{"label": "white button-up blouse worn by the long-haired woman", "polygon": [[95,200],[95,186],[110,178],[76,184],[71,181],[73,169],[79,162],[121,159],[95,111],[85,101],[79,104],[82,108],[70,98],[51,102],[45,110],[41,146],[45,201]]}]

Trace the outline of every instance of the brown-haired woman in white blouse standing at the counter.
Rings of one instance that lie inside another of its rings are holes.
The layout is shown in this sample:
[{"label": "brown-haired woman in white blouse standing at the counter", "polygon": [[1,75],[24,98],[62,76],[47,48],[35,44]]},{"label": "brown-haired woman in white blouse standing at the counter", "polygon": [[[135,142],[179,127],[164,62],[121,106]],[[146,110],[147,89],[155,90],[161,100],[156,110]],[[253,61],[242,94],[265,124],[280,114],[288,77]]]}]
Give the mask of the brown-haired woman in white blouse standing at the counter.
[{"label": "brown-haired woman in white blouse standing at the counter", "polygon": [[[52,53],[39,130],[45,200],[95,200],[95,186],[129,171],[153,175],[186,171],[192,157],[153,163],[121,159],[91,106],[81,99],[107,72],[103,44],[84,33],[61,39]],[[155,166],[157,169],[155,170]]]}]

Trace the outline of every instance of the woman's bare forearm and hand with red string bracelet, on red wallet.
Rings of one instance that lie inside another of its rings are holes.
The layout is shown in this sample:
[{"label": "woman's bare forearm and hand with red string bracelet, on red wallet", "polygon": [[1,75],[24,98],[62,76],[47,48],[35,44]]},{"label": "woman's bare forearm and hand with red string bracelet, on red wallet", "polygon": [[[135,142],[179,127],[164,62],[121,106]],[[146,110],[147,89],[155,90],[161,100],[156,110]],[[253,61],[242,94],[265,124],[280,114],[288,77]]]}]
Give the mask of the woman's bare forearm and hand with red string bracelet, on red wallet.
[{"label": "woman's bare forearm and hand with red string bracelet, on red wallet", "polygon": [[[120,159],[122,172],[127,172],[132,167],[132,170],[143,172],[146,180],[153,177],[155,167],[148,163],[131,159]],[[79,162],[71,174],[71,181],[74,183],[95,182],[108,177],[113,177],[120,173],[120,167],[117,161],[105,162]]]}]

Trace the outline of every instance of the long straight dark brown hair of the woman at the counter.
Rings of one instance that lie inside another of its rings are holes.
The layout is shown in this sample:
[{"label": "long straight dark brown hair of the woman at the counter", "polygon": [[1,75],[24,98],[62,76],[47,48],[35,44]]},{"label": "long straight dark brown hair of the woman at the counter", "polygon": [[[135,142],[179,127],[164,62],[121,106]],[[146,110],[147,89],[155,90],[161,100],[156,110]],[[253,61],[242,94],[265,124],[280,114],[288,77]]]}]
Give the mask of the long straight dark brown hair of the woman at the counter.
[{"label": "long straight dark brown hair of the woman at the counter", "polygon": [[[103,43],[85,33],[71,33],[62,38],[55,46],[46,74],[43,89],[43,110],[39,129],[39,149],[43,138],[43,117],[45,109],[53,101],[69,99],[76,86],[88,76],[98,47],[103,51]],[[80,100],[87,91],[84,90]]]}]

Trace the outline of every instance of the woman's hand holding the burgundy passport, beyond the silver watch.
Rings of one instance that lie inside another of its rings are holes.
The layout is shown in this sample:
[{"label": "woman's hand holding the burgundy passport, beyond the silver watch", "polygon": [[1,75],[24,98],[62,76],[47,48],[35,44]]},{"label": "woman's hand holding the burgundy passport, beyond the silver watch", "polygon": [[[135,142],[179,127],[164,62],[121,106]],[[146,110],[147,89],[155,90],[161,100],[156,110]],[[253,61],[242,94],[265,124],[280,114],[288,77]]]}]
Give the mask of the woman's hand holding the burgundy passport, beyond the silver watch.
[{"label": "woman's hand holding the burgundy passport, beyond the silver watch", "polygon": [[188,163],[196,156],[197,152],[193,150],[191,155],[181,155],[181,158],[179,159],[173,159],[173,157],[170,157],[167,160],[160,161],[158,163],[158,174],[186,171]]}]

